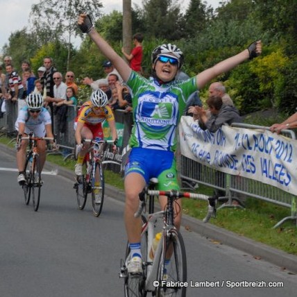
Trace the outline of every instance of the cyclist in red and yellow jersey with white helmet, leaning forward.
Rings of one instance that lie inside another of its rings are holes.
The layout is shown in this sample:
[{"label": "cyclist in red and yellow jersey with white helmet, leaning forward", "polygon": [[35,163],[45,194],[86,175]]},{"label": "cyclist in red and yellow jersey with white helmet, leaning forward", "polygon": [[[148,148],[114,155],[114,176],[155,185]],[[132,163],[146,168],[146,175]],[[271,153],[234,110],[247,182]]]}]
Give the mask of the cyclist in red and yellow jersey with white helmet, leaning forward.
[{"label": "cyclist in red and yellow jersey with white helmet, leaning forward", "polygon": [[90,101],[87,101],[78,111],[74,129],[76,138],[76,151],[78,159],[75,165],[76,176],[83,175],[83,160],[90,148],[90,143],[82,144],[82,139],[103,139],[103,121],[108,121],[110,132],[114,142],[117,141],[117,129],[114,121],[114,114],[107,105],[108,96],[100,89],[92,92]]}]

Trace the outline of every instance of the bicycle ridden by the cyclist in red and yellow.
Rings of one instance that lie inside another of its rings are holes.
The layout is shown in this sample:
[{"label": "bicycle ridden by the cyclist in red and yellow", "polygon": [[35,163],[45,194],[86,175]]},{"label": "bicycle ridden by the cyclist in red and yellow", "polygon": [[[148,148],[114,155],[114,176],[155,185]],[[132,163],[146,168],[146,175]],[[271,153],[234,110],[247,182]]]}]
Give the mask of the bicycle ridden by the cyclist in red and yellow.
[{"label": "bicycle ridden by the cyclist in red and yellow", "polygon": [[[82,143],[91,143],[90,149],[85,156],[83,167],[85,174],[76,178],[76,200],[78,209],[83,210],[87,202],[87,194],[92,193],[92,210],[95,217],[99,217],[104,201],[104,171],[103,158],[107,144],[114,144],[113,140],[83,139]],[[97,183],[97,184],[96,184]],[[96,203],[96,197],[101,203]]]}]

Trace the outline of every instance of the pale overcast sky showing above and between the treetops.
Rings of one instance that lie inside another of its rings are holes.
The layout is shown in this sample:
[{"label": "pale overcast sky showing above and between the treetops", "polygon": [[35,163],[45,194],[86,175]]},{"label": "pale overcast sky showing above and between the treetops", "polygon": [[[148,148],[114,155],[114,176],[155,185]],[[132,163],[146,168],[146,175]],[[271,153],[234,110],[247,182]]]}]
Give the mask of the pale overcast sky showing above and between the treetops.
[{"label": "pale overcast sky showing above and between the treetops", "polygon": [[[213,8],[219,6],[221,0],[207,0],[206,2]],[[103,3],[103,14],[108,14],[112,10],[121,10],[122,0],[101,0]],[[137,5],[142,4],[142,0],[131,0]],[[4,44],[8,43],[8,37],[12,32],[21,30],[28,25],[28,17],[32,4],[40,3],[39,0],[0,0],[0,51]],[[180,0],[187,8],[189,0]]]}]

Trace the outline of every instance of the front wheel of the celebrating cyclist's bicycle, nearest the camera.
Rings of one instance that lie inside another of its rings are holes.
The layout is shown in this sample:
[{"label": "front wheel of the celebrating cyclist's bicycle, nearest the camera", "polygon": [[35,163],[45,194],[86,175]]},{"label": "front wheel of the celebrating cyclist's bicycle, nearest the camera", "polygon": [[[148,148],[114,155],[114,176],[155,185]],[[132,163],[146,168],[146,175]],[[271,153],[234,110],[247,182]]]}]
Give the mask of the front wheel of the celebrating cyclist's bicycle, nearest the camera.
[{"label": "front wheel of the celebrating cyclist's bicycle, nearest the camera", "polygon": [[[170,230],[169,234],[164,238],[164,248],[159,260],[157,279],[159,284],[162,284],[162,282],[166,284],[182,284],[187,281],[185,244],[183,237],[176,229]],[[186,287],[160,285],[155,290],[155,296],[185,297]]]}]

